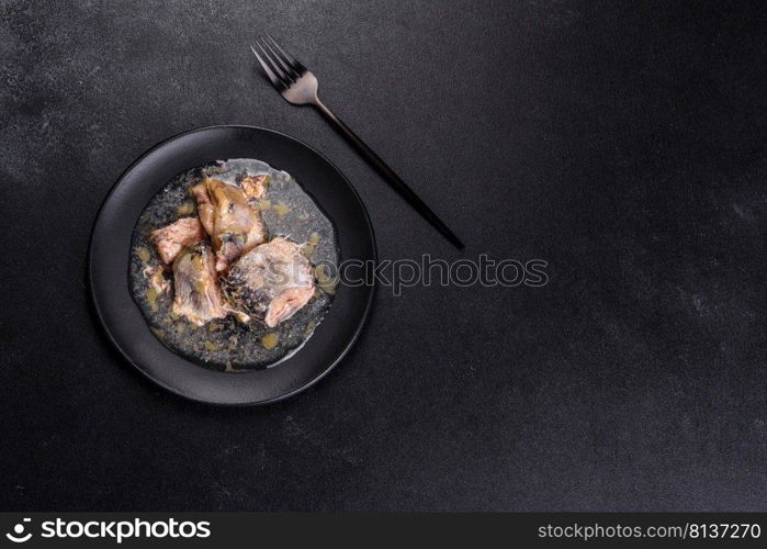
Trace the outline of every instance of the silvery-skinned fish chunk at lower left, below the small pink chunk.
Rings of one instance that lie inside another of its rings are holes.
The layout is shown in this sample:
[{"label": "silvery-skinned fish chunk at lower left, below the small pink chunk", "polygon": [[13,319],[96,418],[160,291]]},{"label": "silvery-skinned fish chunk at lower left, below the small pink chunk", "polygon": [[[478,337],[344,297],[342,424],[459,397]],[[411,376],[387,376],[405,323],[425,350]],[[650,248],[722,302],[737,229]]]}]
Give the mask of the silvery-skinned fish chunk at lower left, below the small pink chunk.
[{"label": "silvery-skinned fish chunk at lower left, below the small pink chunk", "polygon": [[221,296],[215,257],[201,242],[181,251],[173,261],[173,313],[202,326],[226,316]]}]

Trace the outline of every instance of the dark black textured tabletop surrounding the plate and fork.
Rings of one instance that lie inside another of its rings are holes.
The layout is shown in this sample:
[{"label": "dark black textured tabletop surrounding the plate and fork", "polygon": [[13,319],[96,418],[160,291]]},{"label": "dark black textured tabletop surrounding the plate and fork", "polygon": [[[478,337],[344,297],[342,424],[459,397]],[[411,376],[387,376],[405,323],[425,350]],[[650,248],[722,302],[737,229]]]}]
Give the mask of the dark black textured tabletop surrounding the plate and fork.
[{"label": "dark black textured tabletop surrounding the plate and fork", "polygon": [[[0,508],[767,509],[760,2],[0,13]],[[261,79],[261,31],[463,254]],[[89,232],[145,149],[225,123],[326,154],[384,258],[542,258],[550,282],[380,291],[348,359],[300,396],[176,397],[97,329]]]}]

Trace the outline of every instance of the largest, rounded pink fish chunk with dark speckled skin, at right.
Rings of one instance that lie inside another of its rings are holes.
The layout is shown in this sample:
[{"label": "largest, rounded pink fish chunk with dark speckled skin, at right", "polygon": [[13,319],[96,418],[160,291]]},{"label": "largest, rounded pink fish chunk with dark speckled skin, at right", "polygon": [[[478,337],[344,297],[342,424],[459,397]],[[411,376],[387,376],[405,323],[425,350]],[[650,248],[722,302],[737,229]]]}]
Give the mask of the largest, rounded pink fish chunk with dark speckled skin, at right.
[{"label": "largest, rounded pink fish chunk with dark speckled skin, at right", "polygon": [[273,328],[314,295],[312,265],[298,245],[272,238],[240,257],[222,279],[229,304]]}]

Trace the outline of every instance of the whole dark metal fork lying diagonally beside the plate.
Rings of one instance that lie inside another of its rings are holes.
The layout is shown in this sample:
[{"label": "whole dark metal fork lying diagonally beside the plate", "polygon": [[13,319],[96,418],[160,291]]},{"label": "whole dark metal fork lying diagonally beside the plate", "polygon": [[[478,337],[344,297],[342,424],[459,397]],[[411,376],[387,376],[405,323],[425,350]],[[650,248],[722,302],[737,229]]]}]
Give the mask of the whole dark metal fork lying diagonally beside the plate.
[{"label": "whole dark metal fork lying diagonally beside the plate", "polygon": [[463,243],[455,234],[442,223],[429,206],[410,189],[399,176],[397,176],[379,155],[365,145],[365,143],[352,132],[349,126],[340,121],[330,109],[325,107],[317,98],[317,78],[304,67],[298,60],[285,52],[280,45],[267,34],[267,38],[261,37],[256,42],[261,55],[253,46],[256,57],[261,64],[261,68],[272,82],[272,86],[282,97],[292,104],[313,105],[334,125],[334,127],[346,137],[351,145],[368,160],[386,182],[394,188],[418,213],[439,231],[450,243],[459,249],[463,249]]}]

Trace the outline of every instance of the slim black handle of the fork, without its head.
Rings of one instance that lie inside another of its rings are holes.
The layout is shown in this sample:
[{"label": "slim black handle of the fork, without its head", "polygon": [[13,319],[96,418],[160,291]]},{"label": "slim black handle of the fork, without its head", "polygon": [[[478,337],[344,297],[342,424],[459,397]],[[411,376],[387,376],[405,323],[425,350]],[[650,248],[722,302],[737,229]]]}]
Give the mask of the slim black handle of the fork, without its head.
[{"label": "slim black handle of the fork, without its head", "polygon": [[384,163],[379,155],[376,155],[372,148],[370,148],[354,132],[347,126],[341,119],[336,116],[330,109],[325,107],[322,101],[317,100],[314,105],[319,110],[319,112],[325,115],[325,117],[330,122],[334,127],[351,143],[351,145],[364,157],[368,163],[375,168],[375,170],[383,176],[386,182],[394,188],[395,191],[399,193],[426,221],[428,221],[437,231],[439,231],[442,236],[444,236],[453,246],[458,249],[463,249],[464,245],[461,239],[455,236],[455,234],[448,228],[448,226],[442,223],[435,212],[429,209],[428,205],[416,194],[413,189],[410,189],[405,181],[403,181],[399,176],[397,176],[392,168],[390,168],[386,163]]}]

